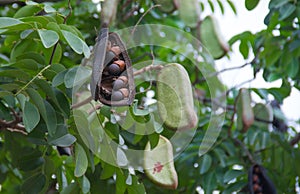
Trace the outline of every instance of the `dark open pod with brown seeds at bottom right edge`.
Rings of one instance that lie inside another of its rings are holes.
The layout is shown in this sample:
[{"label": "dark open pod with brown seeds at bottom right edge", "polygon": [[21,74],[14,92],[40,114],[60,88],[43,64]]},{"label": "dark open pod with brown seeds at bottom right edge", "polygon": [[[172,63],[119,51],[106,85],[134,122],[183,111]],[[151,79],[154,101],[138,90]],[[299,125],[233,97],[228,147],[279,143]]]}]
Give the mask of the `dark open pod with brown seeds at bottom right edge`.
[{"label": "dark open pod with brown seeds at bottom right edge", "polygon": [[276,188],[266,174],[265,169],[255,164],[248,173],[248,186],[250,194],[276,194]]}]

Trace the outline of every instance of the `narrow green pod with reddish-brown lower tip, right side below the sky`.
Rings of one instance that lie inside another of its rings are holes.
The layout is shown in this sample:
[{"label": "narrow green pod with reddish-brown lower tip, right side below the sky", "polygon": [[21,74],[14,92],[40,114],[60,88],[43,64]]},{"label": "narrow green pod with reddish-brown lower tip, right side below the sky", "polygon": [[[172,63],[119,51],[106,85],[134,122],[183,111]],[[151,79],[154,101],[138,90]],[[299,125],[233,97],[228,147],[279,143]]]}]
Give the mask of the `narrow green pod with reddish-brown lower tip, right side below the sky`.
[{"label": "narrow green pod with reddish-brown lower tip, right side below the sky", "polygon": [[242,129],[243,132],[246,132],[254,122],[254,114],[251,107],[251,95],[249,89],[240,89],[237,101],[237,114],[238,129]]}]

